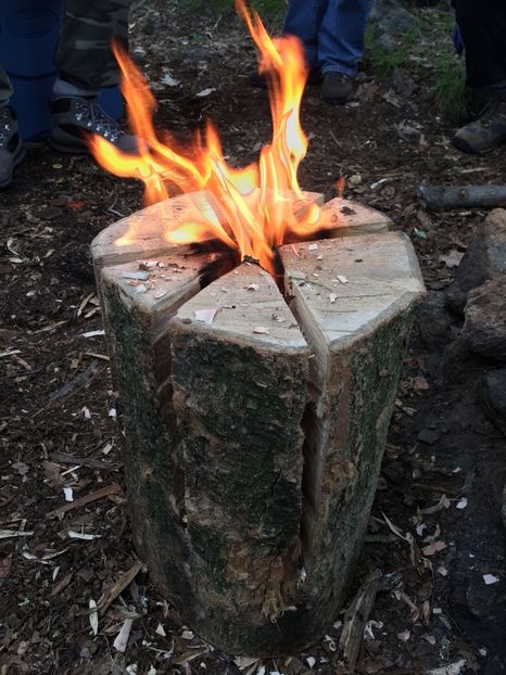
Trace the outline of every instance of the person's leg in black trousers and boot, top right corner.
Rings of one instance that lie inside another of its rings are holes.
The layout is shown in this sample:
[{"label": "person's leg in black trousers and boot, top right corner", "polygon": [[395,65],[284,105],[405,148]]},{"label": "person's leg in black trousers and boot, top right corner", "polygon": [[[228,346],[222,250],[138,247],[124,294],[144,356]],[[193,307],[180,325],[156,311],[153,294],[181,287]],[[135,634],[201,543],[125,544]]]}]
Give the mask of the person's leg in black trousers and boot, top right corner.
[{"label": "person's leg in black trousers and boot, top right corner", "polygon": [[469,87],[484,90],[490,104],[481,117],[457,131],[453,144],[468,153],[489,152],[506,141],[506,2],[455,0]]}]

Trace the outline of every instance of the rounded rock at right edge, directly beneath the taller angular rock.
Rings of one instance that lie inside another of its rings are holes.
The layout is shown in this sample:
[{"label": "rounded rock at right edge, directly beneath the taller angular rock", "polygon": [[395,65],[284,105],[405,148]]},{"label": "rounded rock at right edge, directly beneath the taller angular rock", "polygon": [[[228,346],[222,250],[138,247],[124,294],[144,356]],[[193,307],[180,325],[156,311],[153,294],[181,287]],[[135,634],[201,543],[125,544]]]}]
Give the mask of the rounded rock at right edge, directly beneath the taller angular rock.
[{"label": "rounded rock at right edge, directly beneath the taller angular rock", "polygon": [[461,342],[476,354],[506,361],[506,275],[469,293]]}]

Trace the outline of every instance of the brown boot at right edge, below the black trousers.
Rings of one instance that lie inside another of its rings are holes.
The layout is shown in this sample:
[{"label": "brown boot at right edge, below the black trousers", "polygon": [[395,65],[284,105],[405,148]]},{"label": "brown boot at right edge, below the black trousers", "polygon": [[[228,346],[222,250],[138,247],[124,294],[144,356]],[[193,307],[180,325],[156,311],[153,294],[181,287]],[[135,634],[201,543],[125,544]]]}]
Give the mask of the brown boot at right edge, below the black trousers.
[{"label": "brown boot at right edge, below the black trousers", "polygon": [[481,117],[459,129],[452,139],[458,150],[484,154],[506,141],[506,100],[494,98]]}]

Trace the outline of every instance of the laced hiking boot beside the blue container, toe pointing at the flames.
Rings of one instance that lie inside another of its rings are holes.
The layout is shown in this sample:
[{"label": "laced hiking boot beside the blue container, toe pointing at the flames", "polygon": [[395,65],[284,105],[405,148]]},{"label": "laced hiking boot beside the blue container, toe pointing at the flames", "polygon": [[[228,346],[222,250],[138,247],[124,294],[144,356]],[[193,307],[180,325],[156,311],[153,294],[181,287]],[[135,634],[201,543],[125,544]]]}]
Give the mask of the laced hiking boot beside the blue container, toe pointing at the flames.
[{"label": "laced hiking boot beside the blue container, toe pointing at the flames", "polygon": [[51,145],[55,150],[86,153],[89,140],[97,133],[123,152],[138,151],[136,137],[125,133],[94,98],[61,97],[52,101],[51,112]]}]

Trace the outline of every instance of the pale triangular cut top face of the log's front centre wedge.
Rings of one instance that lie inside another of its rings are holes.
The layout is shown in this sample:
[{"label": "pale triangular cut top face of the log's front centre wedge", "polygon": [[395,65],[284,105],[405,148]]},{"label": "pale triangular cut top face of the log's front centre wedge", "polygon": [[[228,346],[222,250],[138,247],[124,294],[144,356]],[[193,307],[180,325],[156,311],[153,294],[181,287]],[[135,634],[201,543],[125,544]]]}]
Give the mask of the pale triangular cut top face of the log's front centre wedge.
[{"label": "pale triangular cut top face of the log's front centre wedge", "polygon": [[186,303],[175,322],[269,349],[305,349],[306,342],[273,278],[243,263]]}]

